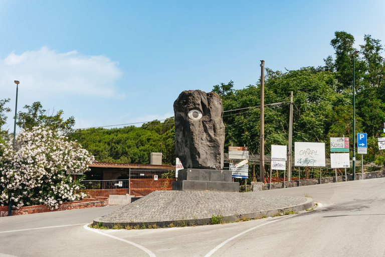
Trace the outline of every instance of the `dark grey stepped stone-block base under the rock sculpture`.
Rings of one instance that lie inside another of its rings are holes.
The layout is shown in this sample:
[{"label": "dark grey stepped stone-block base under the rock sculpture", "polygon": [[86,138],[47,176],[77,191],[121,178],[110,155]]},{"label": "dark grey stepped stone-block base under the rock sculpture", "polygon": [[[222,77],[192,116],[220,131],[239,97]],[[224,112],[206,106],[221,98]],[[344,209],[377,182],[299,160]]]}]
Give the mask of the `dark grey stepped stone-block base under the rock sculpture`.
[{"label": "dark grey stepped stone-block base under the rock sculpture", "polygon": [[238,192],[239,183],[232,182],[231,171],[183,169],[172,182],[172,190]]}]

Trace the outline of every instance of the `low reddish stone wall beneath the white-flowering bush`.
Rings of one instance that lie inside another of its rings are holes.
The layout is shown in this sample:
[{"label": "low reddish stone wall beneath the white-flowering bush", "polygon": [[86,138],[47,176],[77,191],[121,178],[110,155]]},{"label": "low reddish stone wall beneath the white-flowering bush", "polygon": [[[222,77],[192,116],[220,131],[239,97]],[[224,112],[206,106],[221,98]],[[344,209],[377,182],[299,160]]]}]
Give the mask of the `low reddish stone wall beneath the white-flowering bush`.
[{"label": "low reddish stone wall beneath the white-flowering bush", "polygon": [[[107,197],[95,197],[93,199],[87,198],[81,201],[65,202],[65,203],[59,204],[59,208],[54,210],[51,210],[47,205],[24,206],[19,209],[12,210],[12,216],[31,214],[31,213],[50,212],[50,211],[93,208],[93,207],[101,207],[106,205],[108,205]],[[0,206],[0,217],[5,217],[5,216],[8,216],[8,206]]]}]

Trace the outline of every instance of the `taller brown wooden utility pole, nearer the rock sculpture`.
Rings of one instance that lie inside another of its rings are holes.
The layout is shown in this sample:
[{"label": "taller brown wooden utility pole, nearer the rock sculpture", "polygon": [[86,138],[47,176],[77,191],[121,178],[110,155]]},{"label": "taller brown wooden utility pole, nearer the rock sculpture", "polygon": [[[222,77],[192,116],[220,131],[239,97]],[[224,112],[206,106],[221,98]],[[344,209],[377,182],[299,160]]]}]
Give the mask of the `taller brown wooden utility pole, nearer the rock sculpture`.
[{"label": "taller brown wooden utility pole, nearer the rock sculpture", "polygon": [[259,144],[259,181],[265,181],[265,61],[261,61],[261,128]]}]

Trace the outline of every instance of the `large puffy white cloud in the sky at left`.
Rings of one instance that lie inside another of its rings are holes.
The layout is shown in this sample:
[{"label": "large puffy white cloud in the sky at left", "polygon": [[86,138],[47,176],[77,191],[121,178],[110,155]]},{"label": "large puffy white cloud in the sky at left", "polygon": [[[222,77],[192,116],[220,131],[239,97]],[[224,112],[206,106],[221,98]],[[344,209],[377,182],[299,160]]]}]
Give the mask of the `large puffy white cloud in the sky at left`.
[{"label": "large puffy white cloud in the sky at left", "polygon": [[47,47],[21,55],[12,52],[0,58],[1,97],[13,97],[14,80],[20,81],[33,101],[63,94],[121,97],[115,87],[122,76],[117,65],[105,56],[57,53]]}]

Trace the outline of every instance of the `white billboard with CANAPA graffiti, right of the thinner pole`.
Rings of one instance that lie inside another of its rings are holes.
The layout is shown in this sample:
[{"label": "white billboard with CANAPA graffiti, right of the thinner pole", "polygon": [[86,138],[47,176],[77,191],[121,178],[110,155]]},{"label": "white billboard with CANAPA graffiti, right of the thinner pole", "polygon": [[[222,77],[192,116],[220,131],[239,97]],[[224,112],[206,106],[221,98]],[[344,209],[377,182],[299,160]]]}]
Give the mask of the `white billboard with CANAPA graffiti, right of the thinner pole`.
[{"label": "white billboard with CANAPA graffiti, right of the thinner pole", "polygon": [[295,166],[325,167],[325,143],[294,142]]}]

